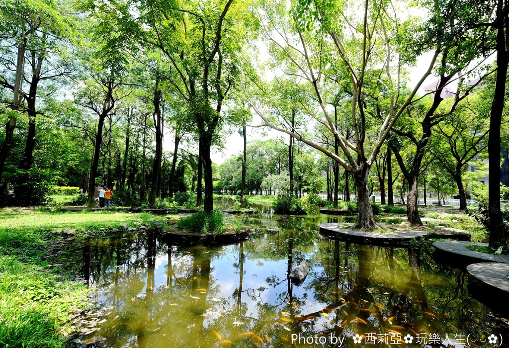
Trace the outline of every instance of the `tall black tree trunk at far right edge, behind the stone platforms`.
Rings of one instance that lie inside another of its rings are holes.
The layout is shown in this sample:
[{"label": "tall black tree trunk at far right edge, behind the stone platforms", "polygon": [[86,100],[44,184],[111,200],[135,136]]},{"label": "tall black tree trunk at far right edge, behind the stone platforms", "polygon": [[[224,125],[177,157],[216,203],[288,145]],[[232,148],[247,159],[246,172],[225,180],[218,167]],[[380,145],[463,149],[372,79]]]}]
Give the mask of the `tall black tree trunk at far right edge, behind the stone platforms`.
[{"label": "tall black tree trunk at far right edge, behind the stone platforms", "polygon": [[508,54],[505,47],[505,33],[507,15],[505,2],[498,0],[496,12],[496,50],[497,50],[497,78],[495,94],[491,104],[490,137],[488,139],[488,159],[490,161],[488,187],[488,205],[490,213],[490,246],[497,248],[507,242],[506,231],[502,223],[500,211],[500,124],[504,108],[505,83],[507,79]]}]

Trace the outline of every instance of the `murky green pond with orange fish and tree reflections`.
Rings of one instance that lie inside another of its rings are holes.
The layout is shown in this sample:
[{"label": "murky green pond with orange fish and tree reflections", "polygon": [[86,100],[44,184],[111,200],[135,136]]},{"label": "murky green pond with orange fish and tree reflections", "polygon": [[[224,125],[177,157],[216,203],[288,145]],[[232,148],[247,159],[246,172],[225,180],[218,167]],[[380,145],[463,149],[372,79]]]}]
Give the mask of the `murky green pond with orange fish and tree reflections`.
[{"label": "murky green pond with orange fish and tree reflections", "polygon": [[[176,246],[154,230],[69,245],[61,262],[98,286],[105,313],[82,339],[119,348],[509,343],[506,314],[479,302],[489,295],[474,297],[468,273],[430,245],[330,241],[318,225],[338,221],[331,216],[243,218],[256,233],[233,245]],[[288,274],[302,260],[310,272],[296,286]]]}]

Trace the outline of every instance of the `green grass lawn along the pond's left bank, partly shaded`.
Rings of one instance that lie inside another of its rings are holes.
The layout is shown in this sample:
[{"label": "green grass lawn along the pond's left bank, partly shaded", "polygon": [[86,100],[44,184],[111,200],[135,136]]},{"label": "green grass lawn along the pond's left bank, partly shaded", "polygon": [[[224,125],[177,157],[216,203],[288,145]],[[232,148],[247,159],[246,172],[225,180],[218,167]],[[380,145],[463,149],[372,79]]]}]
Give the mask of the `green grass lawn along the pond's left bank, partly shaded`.
[{"label": "green grass lawn along the pond's left bank, partly shaded", "polygon": [[[73,277],[56,273],[42,257],[53,229],[76,229],[82,236],[100,228],[134,226],[151,214],[111,211],[53,212],[0,209],[0,347],[64,348],[72,332],[71,313],[89,305],[89,289]],[[156,220],[160,219],[154,217]]]}]

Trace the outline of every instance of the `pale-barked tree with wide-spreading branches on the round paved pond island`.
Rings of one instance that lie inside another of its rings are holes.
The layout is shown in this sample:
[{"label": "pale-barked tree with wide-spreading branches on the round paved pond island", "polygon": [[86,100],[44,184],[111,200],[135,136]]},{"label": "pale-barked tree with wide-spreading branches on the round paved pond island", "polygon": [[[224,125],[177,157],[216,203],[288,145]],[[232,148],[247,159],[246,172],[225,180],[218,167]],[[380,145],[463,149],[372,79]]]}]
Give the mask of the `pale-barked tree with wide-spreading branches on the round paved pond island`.
[{"label": "pale-barked tree with wide-spreading branches on the round paved pond island", "polygon": [[[404,47],[393,46],[393,43],[401,38],[399,30],[403,27],[395,13],[389,15],[390,4],[369,1],[363,4],[338,4],[332,1],[309,4],[298,1],[292,5],[291,11],[288,11],[286,2],[264,5],[259,14],[273,56],[280,62],[284,73],[298,76],[309,85],[320,113],[308,108],[305,112],[334,135],[347,160],[305,137],[298,130],[283,128],[281,125],[289,124],[290,120],[278,120],[272,116],[281,113],[277,111],[277,103],[259,78],[250,76],[250,81],[244,79],[246,100],[266,125],[293,136],[343,166],[353,176],[357,188],[359,215],[355,227],[378,228],[369,199],[368,178],[371,166],[390,129],[412,102],[419,86],[431,74],[441,48],[434,47],[429,67],[402,101],[400,89],[403,86],[401,68],[405,63],[402,56]],[[362,17],[347,16],[349,12],[346,8],[349,6],[361,6]],[[376,44],[379,37],[383,38],[383,45]],[[355,135],[353,143],[335,128],[327,107],[326,83],[332,79],[340,80],[351,96],[350,118]],[[299,87],[302,85],[304,82]],[[366,128],[366,123],[371,122],[370,114],[366,112],[370,107],[366,104],[367,94],[375,94],[385,101],[383,117],[374,134]],[[260,100],[265,103],[260,103]],[[271,111],[271,108],[276,108],[276,111]],[[369,147],[366,138],[370,137],[376,141]]]}]

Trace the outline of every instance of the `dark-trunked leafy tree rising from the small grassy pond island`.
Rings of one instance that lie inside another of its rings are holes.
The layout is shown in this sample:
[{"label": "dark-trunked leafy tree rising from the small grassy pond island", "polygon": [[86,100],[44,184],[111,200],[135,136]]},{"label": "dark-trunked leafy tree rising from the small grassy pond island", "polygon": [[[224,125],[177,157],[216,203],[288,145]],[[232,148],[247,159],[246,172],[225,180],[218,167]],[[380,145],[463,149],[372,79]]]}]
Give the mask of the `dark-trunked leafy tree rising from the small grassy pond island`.
[{"label": "dark-trunked leafy tree rising from the small grassy pond island", "polygon": [[171,73],[161,72],[161,77],[186,105],[185,115],[195,126],[205,178],[204,209],[211,212],[210,148],[224,121],[221,109],[237,75],[239,55],[249,30],[242,2],[203,5],[132,2],[131,9],[139,13],[139,18],[129,15],[125,19],[129,23],[126,32],[135,32],[139,40],[161,52],[172,66]]}]

